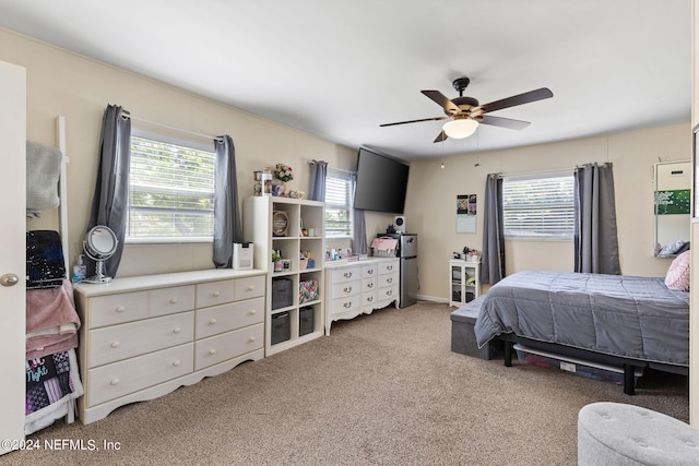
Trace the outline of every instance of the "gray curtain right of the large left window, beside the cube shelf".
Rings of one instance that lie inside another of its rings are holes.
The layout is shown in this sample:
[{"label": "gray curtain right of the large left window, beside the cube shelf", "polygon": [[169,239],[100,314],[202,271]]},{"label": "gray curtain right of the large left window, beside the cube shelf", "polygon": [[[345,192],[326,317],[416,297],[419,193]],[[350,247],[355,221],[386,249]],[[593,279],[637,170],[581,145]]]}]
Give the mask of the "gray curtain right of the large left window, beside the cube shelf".
[{"label": "gray curtain right of the large left window, beside the cube shelf", "polygon": [[242,225],[238,208],[236,150],[229,135],[214,140],[214,254],[216,268],[233,266],[233,243],[242,242]]}]

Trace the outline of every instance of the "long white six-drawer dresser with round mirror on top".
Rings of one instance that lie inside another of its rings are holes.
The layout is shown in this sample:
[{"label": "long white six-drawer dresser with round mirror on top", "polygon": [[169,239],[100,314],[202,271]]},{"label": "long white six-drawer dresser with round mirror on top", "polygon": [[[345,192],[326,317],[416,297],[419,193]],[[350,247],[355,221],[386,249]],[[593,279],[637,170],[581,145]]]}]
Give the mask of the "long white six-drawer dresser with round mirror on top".
[{"label": "long white six-drawer dresser with round mirror on top", "polygon": [[210,270],[78,284],[83,423],[264,357],[262,271]]}]

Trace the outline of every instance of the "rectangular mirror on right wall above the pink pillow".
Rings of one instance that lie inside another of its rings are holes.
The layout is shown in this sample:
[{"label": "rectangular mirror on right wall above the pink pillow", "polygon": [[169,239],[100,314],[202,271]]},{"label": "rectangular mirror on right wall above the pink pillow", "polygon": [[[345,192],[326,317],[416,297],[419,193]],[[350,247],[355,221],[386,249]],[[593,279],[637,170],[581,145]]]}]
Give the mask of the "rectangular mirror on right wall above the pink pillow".
[{"label": "rectangular mirror on right wall above the pink pillow", "polygon": [[654,166],[655,256],[672,258],[689,241],[691,163]]}]

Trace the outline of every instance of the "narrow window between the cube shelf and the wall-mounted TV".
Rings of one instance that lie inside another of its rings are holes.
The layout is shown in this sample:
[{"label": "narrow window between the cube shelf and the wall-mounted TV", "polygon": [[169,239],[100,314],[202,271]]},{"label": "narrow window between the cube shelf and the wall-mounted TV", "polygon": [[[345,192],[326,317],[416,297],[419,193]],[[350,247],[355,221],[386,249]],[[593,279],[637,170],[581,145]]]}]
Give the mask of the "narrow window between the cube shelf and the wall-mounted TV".
[{"label": "narrow window between the cube shelf and the wall-mounted TV", "polygon": [[352,237],[352,192],[350,174],[328,170],[325,178],[325,237]]}]

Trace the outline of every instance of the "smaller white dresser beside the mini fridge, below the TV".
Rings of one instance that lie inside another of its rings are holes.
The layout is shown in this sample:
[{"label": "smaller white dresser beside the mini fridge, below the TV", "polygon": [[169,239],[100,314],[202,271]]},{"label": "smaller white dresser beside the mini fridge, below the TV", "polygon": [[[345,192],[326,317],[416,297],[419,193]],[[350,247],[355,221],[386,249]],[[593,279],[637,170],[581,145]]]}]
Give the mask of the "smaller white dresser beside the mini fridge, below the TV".
[{"label": "smaller white dresser beside the mini fridge, below the TV", "polygon": [[325,335],[341,319],[370,314],[400,302],[400,262],[396,258],[325,262]]}]

